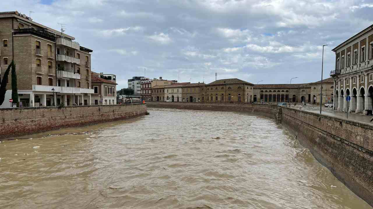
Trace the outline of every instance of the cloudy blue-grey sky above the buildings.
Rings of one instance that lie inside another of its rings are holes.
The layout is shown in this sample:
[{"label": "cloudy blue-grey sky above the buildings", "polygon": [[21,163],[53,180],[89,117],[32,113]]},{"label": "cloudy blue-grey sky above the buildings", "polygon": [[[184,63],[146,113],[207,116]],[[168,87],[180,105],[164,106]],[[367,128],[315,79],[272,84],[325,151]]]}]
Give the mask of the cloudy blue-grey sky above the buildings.
[{"label": "cloudy blue-grey sky above the buildings", "polygon": [[93,49],[92,68],[180,82],[240,78],[307,83],[334,68],[336,45],[372,25],[372,1],[13,0],[1,10],[29,15]]}]

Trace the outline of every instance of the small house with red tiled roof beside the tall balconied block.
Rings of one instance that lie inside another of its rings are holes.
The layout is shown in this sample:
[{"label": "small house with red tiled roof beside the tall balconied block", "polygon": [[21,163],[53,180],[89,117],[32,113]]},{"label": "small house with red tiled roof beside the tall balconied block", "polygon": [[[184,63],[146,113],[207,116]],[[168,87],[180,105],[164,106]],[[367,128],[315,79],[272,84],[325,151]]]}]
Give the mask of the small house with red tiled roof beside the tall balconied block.
[{"label": "small house with red tiled roof beside the tall balconied block", "polygon": [[116,105],[116,75],[92,72],[93,105]]}]

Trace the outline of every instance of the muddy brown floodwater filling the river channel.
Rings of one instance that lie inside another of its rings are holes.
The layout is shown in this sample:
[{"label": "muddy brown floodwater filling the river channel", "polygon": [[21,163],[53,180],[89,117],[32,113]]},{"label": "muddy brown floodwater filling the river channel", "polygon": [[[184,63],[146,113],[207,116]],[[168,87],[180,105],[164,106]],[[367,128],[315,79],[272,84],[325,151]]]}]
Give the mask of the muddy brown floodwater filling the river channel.
[{"label": "muddy brown floodwater filling the river channel", "polygon": [[1,141],[0,208],[372,209],[272,119],[148,110]]}]

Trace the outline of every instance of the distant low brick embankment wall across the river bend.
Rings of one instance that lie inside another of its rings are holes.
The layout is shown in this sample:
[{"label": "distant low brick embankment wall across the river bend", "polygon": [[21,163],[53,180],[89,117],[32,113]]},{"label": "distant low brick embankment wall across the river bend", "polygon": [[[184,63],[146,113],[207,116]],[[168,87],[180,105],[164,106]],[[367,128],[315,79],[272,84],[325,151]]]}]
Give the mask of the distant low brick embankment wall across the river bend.
[{"label": "distant low brick embankment wall across the river bend", "polygon": [[148,102],[148,107],[176,108],[191,110],[215,110],[229,112],[248,112],[254,115],[275,119],[276,105],[260,105],[251,103],[215,103],[215,102]]}]

